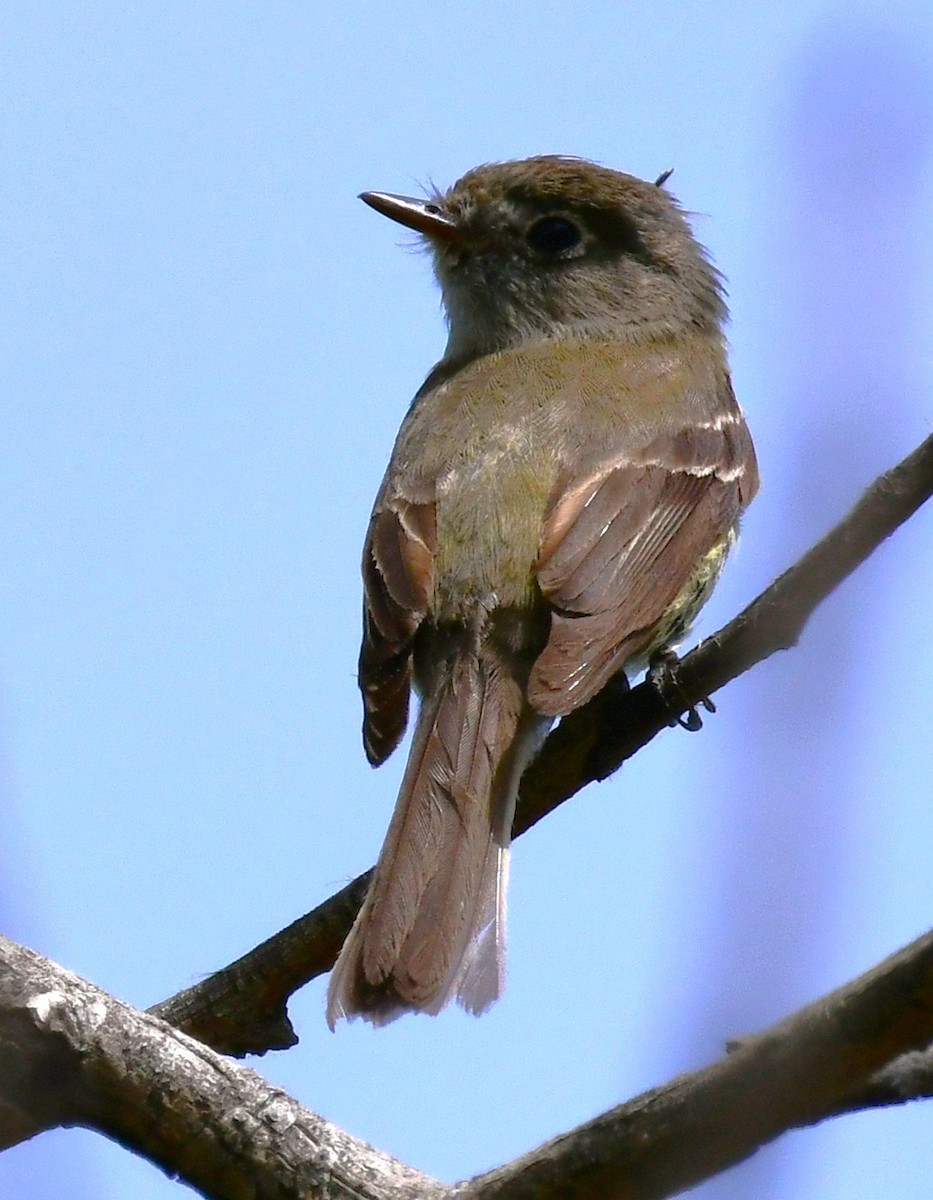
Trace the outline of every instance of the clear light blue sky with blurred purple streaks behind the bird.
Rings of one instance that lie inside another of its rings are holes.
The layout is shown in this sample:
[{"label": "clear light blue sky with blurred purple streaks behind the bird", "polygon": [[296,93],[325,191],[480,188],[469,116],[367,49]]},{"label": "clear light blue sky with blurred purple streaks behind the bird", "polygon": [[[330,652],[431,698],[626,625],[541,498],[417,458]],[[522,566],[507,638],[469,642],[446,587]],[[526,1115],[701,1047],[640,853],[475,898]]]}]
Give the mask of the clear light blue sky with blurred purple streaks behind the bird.
[{"label": "clear light blue sky with blurred purple streaks behind the bird", "polygon": [[[670,187],[729,278],[764,485],[709,632],[931,431],[933,11],[24,4],[0,13],[0,917],[139,1006],[373,860],[359,552],[444,330],[360,204],[482,161]],[[523,838],[510,982],[254,1063],[446,1180],[711,1061],[933,918],[933,512],[799,649]],[[698,1193],[929,1196],[933,1109],[795,1133]],[[1,1200],[181,1186],[58,1132]]]}]

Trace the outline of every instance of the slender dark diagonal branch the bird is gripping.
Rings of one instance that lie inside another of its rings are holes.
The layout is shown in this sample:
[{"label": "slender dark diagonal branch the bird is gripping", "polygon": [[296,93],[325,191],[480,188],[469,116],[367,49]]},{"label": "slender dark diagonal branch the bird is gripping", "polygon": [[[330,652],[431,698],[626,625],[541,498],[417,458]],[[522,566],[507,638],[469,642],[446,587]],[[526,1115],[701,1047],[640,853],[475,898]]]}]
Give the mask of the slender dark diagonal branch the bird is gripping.
[{"label": "slender dark diagonal branch the bird is gripping", "polygon": [[[514,836],[586,784],[618,770],[682,712],[776,650],[795,646],[819,604],[931,494],[933,436],[879,476],[849,515],[744,612],[692,650],[679,665],[673,695],[650,682],[628,690],[620,678],[564,718],[522,778]],[[333,966],[369,874],[150,1012],[227,1054],[294,1045],[288,997]]]}]

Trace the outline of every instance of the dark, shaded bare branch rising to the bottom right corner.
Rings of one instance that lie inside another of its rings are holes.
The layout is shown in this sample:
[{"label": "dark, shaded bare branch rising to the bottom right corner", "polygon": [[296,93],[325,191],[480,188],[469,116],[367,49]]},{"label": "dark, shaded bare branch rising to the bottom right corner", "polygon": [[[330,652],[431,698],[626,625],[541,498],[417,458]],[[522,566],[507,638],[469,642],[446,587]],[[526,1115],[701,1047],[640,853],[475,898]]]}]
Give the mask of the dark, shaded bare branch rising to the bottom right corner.
[{"label": "dark, shaded bare branch rising to the bottom right corner", "polygon": [[[681,1075],[462,1184],[457,1200],[662,1200],[781,1133],[902,1103],[899,1058],[933,1039],[933,934],[800,1009],[726,1058]],[[892,1086],[893,1085],[893,1086]],[[856,1099],[856,1097],[859,1099]]]}]

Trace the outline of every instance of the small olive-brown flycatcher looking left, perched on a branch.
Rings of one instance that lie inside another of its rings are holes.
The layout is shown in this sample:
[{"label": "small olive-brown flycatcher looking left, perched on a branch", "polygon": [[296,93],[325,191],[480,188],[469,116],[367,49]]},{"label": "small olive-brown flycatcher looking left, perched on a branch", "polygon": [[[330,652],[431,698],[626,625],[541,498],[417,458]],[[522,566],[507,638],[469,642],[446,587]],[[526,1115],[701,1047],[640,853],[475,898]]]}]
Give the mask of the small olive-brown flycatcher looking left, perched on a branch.
[{"label": "small olive-brown flycatcher looking left, perched on a branch", "polygon": [[421,708],[331,1027],[499,996],[523,769],[684,635],[758,490],[721,276],[664,181],[542,156],[361,197],[427,242],[450,338],[363,548],[371,763]]}]

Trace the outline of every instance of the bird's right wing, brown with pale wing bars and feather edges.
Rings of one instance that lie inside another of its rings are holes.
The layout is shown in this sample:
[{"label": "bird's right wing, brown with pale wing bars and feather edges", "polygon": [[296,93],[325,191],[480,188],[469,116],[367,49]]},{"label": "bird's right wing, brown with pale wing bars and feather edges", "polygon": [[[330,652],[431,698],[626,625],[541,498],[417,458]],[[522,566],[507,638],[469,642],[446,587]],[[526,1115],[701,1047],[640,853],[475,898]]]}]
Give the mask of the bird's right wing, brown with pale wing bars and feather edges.
[{"label": "bird's right wing, brown with pale wing bars and feather edges", "polygon": [[561,472],[536,564],[552,608],[529,680],[538,712],[560,715],[585,703],[658,635],[663,641],[666,622],[668,635],[688,623],[715,581],[758,487],[728,377],[717,391],[691,404],[697,416],[679,427]]}]

